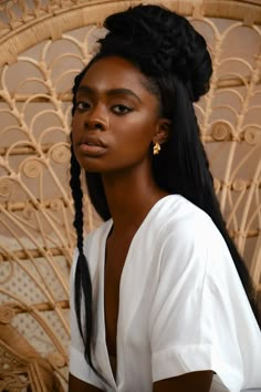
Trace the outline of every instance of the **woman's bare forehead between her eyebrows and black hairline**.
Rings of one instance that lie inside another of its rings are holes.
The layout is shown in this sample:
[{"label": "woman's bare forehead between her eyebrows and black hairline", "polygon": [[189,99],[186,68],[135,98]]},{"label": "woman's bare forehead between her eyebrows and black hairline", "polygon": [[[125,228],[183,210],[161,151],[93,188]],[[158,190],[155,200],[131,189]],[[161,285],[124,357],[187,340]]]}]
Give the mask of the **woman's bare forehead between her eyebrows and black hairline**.
[{"label": "woman's bare forehead between her eyebrows and black hairline", "polygon": [[109,56],[94,62],[80,85],[95,90],[130,89],[139,94],[149,94],[147,78],[129,61]]}]

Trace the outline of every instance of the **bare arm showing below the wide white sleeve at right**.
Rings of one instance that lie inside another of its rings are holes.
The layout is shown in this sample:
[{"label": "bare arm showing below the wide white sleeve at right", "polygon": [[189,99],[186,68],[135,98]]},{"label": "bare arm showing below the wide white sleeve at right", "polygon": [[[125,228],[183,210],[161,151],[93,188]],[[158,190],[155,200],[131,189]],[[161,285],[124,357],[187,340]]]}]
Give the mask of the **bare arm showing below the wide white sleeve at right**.
[{"label": "bare arm showing below the wide white sleeve at right", "polygon": [[212,382],[212,371],[191,372],[154,383],[153,392],[209,392]]}]

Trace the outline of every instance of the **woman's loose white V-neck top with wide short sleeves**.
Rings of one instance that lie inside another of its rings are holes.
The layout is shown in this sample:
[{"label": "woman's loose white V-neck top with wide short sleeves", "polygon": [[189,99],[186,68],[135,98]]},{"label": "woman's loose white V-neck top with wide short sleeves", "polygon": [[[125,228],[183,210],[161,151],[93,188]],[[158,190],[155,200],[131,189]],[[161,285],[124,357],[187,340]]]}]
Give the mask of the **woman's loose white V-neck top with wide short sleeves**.
[{"label": "woman's loose white V-neck top with wide short sleeves", "polygon": [[71,274],[70,372],[105,391],[149,392],[153,382],[213,370],[211,392],[261,388],[261,333],[226,243],[202,210],[178,195],[150,209],[130,244],[122,272],[117,378],[104,324],[104,256],[112,219],[87,236],[94,289],[94,363],[79,334]]}]

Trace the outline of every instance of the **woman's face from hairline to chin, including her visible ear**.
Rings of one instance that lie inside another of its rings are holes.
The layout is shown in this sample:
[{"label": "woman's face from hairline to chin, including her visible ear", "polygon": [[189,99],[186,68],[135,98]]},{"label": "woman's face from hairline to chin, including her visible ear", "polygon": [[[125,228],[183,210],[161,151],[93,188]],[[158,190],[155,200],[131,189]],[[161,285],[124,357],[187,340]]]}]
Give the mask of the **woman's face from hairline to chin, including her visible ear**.
[{"label": "woman's face from hairline to chin, including her visible ear", "polygon": [[86,172],[104,174],[148,163],[164,120],[146,83],[122,58],[91,65],[79,86],[72,122],[74,153]]}]

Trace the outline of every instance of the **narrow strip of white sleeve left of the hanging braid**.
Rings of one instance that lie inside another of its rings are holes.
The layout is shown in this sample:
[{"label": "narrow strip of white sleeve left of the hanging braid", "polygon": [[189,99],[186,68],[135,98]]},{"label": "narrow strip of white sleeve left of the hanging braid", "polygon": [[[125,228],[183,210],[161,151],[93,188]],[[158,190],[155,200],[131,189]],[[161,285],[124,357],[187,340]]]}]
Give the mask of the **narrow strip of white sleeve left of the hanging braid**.
[{"label": "narrow strip of white sleeve left of the hanging braid", "polygon": [[70,276],[70,323],[71,323],[71,344],[70,344],[70,365],[69,371],[77,379],[85,381],[94,386],[102,388],[101,381],[87,364],[84,358],[83,340],[79,331],[75,307],[74,307],[74,276],[77,260],[77,250],[74,252],[73,265]]}]

